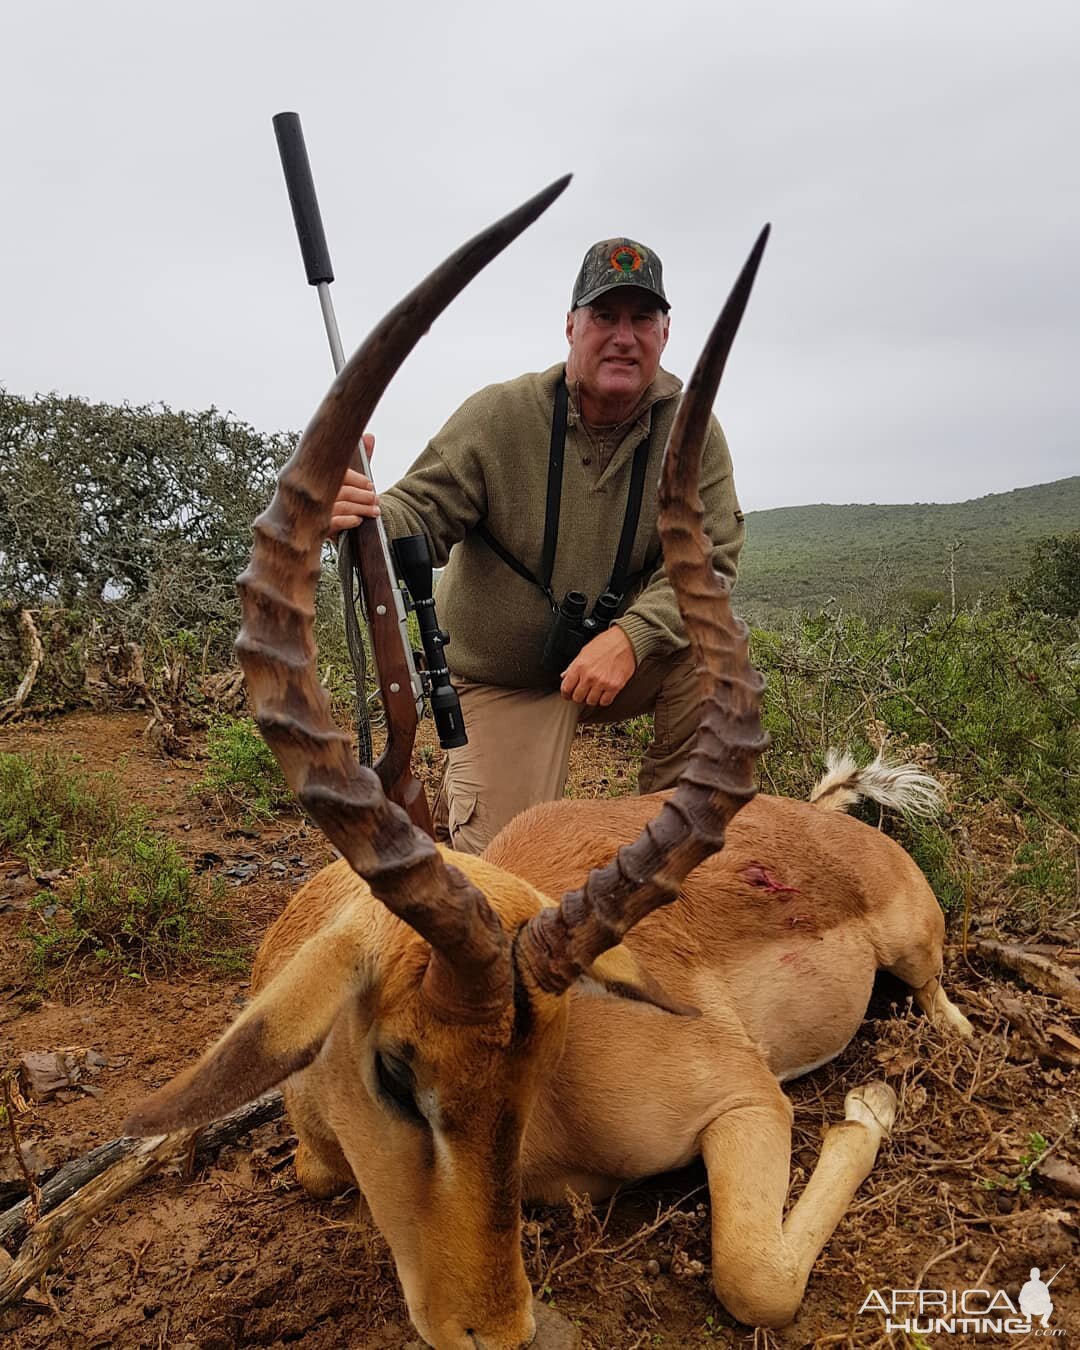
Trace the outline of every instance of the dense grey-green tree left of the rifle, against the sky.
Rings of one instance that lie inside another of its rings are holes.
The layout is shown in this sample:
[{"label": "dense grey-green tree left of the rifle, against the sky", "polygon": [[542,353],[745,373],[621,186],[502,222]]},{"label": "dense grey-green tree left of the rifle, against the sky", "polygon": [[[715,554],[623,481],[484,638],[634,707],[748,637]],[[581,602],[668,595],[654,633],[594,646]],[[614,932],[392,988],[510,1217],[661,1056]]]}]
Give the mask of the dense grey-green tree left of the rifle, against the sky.
[{"label": "dense grey-green tree left of the rifle, against the sky", "polygon": [[251,521],[293,446],[216,409],[0,389],[0,597],[119,610],[131,637],[231,632]]}]

